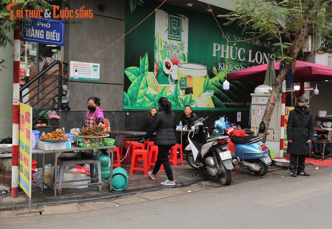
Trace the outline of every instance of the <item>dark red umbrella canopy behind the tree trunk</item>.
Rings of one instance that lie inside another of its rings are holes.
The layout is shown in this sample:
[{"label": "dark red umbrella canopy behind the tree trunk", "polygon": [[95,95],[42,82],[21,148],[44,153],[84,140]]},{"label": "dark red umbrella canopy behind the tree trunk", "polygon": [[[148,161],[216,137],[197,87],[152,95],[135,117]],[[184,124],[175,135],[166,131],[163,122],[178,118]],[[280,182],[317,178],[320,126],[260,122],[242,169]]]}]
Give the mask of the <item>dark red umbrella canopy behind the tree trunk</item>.
[{"label": "dark red umbrella canopy behind the tree trunk", "polygon": [[[274,62],[276,75],[280,62]],[[294,82],[316,82],[332,80],[332,67],[296,60]],[[227,74],[227,80],[263,83],[268,64],[257,65]]]}]

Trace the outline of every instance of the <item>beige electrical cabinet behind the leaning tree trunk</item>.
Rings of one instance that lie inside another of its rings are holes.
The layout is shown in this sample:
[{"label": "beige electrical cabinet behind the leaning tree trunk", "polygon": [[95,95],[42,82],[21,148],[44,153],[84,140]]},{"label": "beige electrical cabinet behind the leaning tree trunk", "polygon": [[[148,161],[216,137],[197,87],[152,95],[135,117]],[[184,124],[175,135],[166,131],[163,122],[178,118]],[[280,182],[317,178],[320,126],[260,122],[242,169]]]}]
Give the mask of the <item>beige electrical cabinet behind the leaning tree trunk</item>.
[{"label": "beige electrical cabinet behind the leaning tree trunk", "polygon": [[[270,93],[257,94],[252,93],[251,95],[251,130],[258,133],[259,124],[263,119]],[[267,141],[280,141],[280,123],[281,123],[281,94],[279,94],[274,110],[272,112],[270,124],[268,130],[270,134],[266,136]],[[255,125],[256,124],[256,125]]]}]

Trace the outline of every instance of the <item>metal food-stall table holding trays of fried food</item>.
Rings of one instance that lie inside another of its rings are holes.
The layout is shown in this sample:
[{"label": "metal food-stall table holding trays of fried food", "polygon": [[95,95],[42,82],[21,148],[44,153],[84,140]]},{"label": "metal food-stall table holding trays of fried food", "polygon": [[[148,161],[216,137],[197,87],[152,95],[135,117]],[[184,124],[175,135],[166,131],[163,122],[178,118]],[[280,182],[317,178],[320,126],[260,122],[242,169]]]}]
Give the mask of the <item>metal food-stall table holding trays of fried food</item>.
[{"label": "metal food-stall table holding trays of fried food", "polygon": [[[41,150],[38,148],[34,148],[32,149],[32,153],[39,153],[39,154],[43,154],[43,158],[42,158],[42,164],[45,164],[45,154],[46,153],[54,153],[55,154],[55,160],[54,160],[54,183],[53,186],[54,188],[51,187],[50,184],[46,184],[44,183],[44,166],[42,167],[42,185],[41,185],[41,190],[44,189],[44,185],[46,185],[47,187],[51,188],[54,190],[54,199],[56,199],[56,191],[59,188],[64,188],[64,187],[56,187],[57,186],[57,181],[56,181],[56,174],[57,174],[57,157],[62,153],[62,152],[67,152],[67,151],[82,151],[82,150],[87,150],[87,149],[108,149],[109,152],[111,153],[111,167],[110,167],[110,189],[109,191],[112,191],[112,175],[113,175],[113,148],[115,148],[115,146],[99,146],[99,147],[88,147],[88,148],[82,148],[82,147],[77,147],[75,144],[72,145],[71,148],[67,148],[67,149],[53,149],[53,150]],[[94,182],[94,183],[90,183],[90,184],[86,184],[86,185],[99,185],[102,183],[107,183],[107,181],[103,181],[103,182]],[[68,187],[75,187],[75,186],[80,186],[80,185],[74,185],[74,186],[65,186],[66,188]]]}]

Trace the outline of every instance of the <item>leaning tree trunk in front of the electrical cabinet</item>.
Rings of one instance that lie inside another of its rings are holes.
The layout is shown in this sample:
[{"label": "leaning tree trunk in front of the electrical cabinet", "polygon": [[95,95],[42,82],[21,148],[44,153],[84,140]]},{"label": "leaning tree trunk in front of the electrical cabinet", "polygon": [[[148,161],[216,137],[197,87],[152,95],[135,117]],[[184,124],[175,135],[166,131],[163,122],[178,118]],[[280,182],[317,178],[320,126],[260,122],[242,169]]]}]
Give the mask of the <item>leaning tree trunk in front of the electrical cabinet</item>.
[{"label": "leaning tree trunk in front of the electrical cabinet", "polygon": [[[264,133],[259,133],[258,136],[262,138],[262,142],[266,142],[266,135],[267,131],[270,125],[270,120],[272,116],[273,109],[275,107],[280,88],[282,86],[282,83],[287,76],[288,72],[291,69],[291,66],[293,66],[292,71],[295,71],[295,61],[296,57],[302,48],[302,44],[304,41],[304,38],[308,35],[309,29],[312,26],[311,19],[314,16],[315,10],[317,10],[317,6],[321,5],[322,0],[317,0],[315,3],[315,6],[311,8],[311,10],[308,12],[308,16],[305,18],[304,23],[301,26],[301,29],[299,30],[298,35],[295,37],[293,44],[287,49],[287,55],[292,58],[292,63],[291,64],[284,64],[284,67],[279,71],[279,74],[276,77],[276,80],[274,82],[271,95],[265,110],[265,113],[263,115],[262,121],[265,124],[265,131]],[[280,118],[280,117],[276,117]],[[283,120],[282,120],[283,121]]]}]

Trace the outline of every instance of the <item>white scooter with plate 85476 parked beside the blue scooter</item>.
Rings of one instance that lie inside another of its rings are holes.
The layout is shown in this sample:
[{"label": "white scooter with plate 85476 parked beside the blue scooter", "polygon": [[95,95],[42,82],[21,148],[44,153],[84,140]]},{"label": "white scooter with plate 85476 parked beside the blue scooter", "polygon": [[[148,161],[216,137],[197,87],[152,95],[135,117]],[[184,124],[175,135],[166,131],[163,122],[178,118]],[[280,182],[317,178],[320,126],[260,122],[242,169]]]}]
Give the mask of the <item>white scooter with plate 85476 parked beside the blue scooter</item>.
[{"label": "white scooter with plate 85476 parked beside the blue scooter", "polygon": [[208,128],[204,127],[207,118],[196,120],[192,126],[188,134],[189,145],[185,149],[186,160],[191,167],[199,170],[198,173],[206,170],[209,176],[218,177],[222,185],[230,185],[234,167],[231,152],[227,150],[228,136],[210,137]]}]

